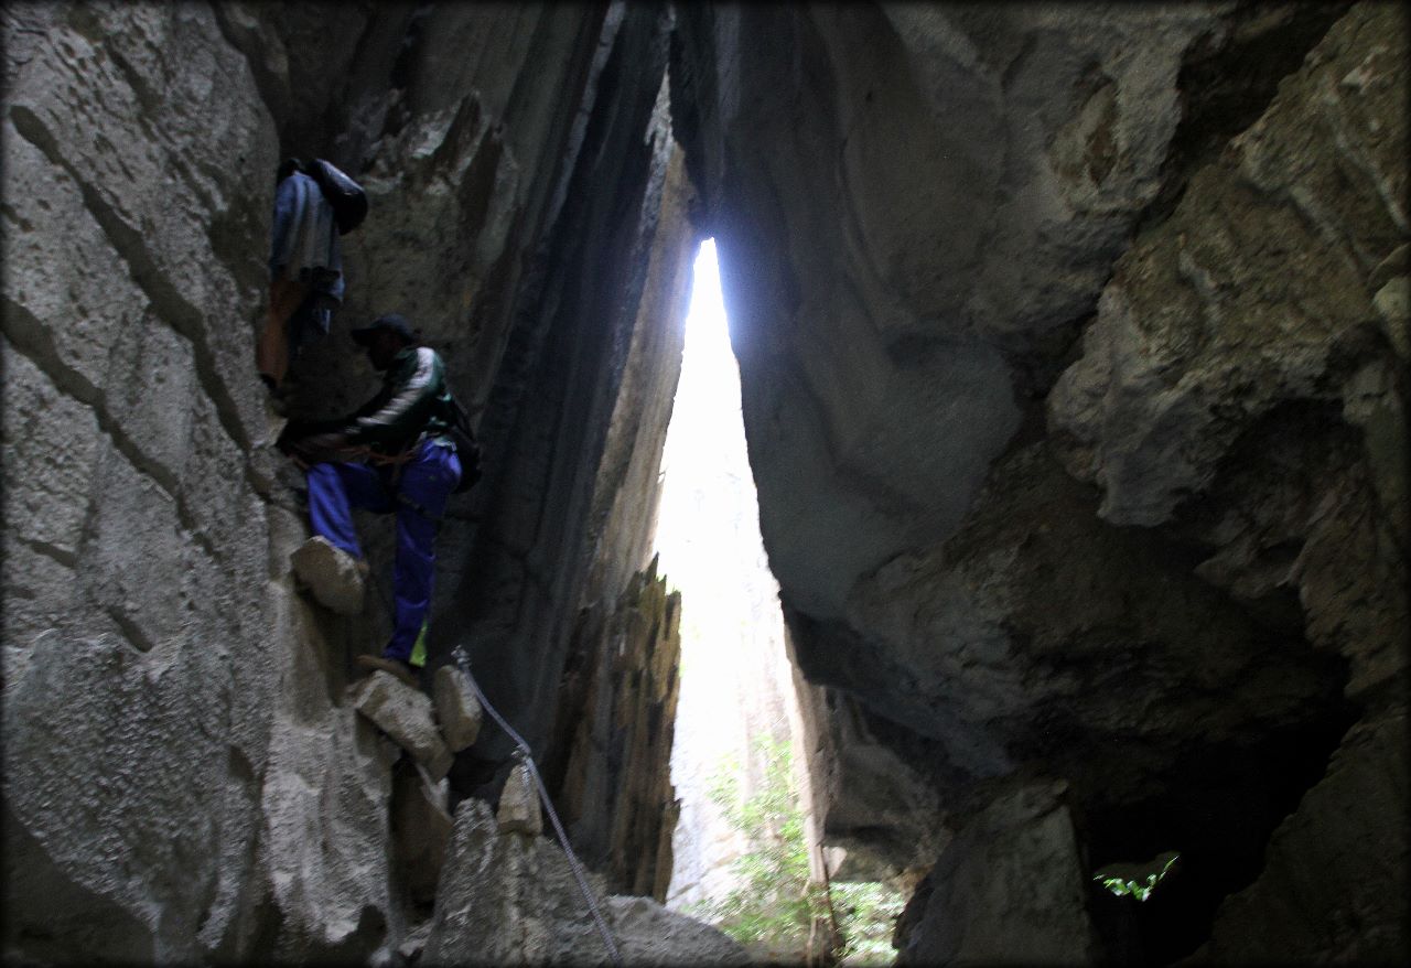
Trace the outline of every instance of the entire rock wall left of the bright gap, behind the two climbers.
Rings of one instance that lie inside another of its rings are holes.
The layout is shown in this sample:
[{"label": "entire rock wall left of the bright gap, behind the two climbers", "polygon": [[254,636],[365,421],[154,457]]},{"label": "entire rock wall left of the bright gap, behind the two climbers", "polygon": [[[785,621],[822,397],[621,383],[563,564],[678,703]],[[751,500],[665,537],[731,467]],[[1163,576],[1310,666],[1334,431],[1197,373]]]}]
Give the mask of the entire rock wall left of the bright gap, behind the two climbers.
[{"label": "entire rock wall left of the bright gap, behind the two climbers", "polygon": [[487,478],[443,526],[433,665],[468,635],[542,755],[576,610],[646,563],[691,243],[667,11],[3,17],[7,957],[395,957],[437,847],[346,691],[388,634],[391,531],[360,521],[365,615],[295,588],[301,481],[253,365],[275,165],[327,157],[371,199],[293,415],[373,392],[347,329],[375,313],[444,353]]}]

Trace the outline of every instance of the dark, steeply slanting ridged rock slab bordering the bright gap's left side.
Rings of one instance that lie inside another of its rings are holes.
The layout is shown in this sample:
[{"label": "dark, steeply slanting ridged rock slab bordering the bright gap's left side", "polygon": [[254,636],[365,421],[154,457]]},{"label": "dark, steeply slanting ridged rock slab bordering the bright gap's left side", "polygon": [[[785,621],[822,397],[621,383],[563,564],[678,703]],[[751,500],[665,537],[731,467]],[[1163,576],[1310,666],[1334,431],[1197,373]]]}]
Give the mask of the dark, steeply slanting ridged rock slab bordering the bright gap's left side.
[{"label": "dark, steeply slanting ridged rock slab bordering the bright gap's left side", "polygon": [[[663,100],[670,20],[646,4],[612,11],[598,110],[574,134],[581,162],[564,172],[555,244],[529,262],[490,388],[481,524],[436,619],[536,752],[579,612],[611,610],[648,563],[694,238]],[[490,731],[459,782],[490,796],[508,754]]]}]

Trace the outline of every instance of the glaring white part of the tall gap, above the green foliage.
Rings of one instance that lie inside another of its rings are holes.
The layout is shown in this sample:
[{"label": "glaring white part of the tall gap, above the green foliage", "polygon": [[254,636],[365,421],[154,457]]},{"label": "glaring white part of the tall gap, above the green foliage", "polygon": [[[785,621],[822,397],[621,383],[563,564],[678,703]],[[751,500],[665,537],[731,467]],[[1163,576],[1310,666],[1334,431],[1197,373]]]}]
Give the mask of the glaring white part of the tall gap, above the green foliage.
[{"label": "glaring white part of the tall gap, above the green foliage", "polygon": [[682,673],[672,782],[682,800],[667,903],[725,896],[748,837],[711,787],[738,770],[748,797],[752,744],[792,738],[779,586],[759,538],[759,509],[739,413],[715,243],[701,244],[686,319],[682,378],[662,459],[656,550],[682,590]]}]

